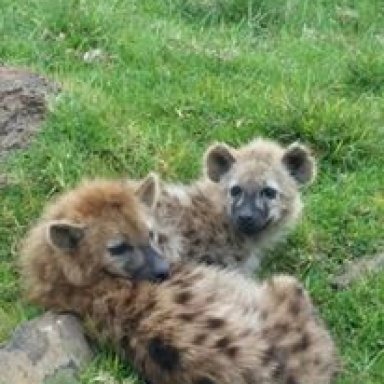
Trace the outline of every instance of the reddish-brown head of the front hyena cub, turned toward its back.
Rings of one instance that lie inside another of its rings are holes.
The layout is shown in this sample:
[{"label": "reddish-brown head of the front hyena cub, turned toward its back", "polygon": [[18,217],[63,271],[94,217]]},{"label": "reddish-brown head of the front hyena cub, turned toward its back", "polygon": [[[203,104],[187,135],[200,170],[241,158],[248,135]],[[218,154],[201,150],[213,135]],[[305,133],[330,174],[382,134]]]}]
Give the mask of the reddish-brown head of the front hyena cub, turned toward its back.
[{"label": "reddish-brown head of the front hyena cub, turned toward its back", "polygon": [[169,265],[152,242],[146,214],[155,200],[153,185],[149,178],[135,186],[87,182],[52,204],[42,222],[43,236],[32,232],[32,243],[33,236],[44,237],[40,251],[54,258],[54,263],[47,261],[50,268],[55,265],[73,285],[88,284],[103,273],[162,281]]}]

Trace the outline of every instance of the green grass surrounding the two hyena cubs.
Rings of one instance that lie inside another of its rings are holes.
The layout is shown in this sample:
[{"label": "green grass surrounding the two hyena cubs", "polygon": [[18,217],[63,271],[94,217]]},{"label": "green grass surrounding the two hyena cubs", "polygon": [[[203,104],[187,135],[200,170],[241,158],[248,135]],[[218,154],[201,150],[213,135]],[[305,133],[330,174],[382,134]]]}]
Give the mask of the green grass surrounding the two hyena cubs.
[{"label": "green grass surrounding the two hyena cubs", "polygon": [[[384,382],[384,278],[334,292],[347,260],[384,248],[381,0],[0,0],[0,60],[62,84],[44,129],[2,164],[0,340],[37,312],[17,244],[46,200],[83,176],[199,173],[214,140],[308,143],[306,213],[264,274],[299,276],[344,363],[338,384]],[[100,48],[104,57],[86,63]],[[82,382],[137,383],[103,351]],[[114,379],[113,379],[114,378]]]}]

